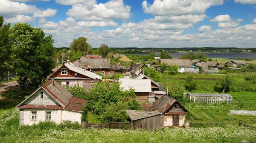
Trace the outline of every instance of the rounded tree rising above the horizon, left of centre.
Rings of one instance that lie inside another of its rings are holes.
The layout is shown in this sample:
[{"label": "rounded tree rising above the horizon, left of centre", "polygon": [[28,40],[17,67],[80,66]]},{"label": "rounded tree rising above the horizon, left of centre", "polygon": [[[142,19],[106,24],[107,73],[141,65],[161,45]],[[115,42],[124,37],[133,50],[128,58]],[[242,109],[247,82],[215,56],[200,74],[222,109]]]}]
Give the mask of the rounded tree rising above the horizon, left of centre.
[{"label": "rounded tree rising above the horizon, left of centre", "polygon": [[92,50],[91,45],[87,43],[87,38],[79,37],[78,39],[73,39],[73,42],[70,44],[71,50],[76,52],[80,51],[84,54],[89,54]]}]

